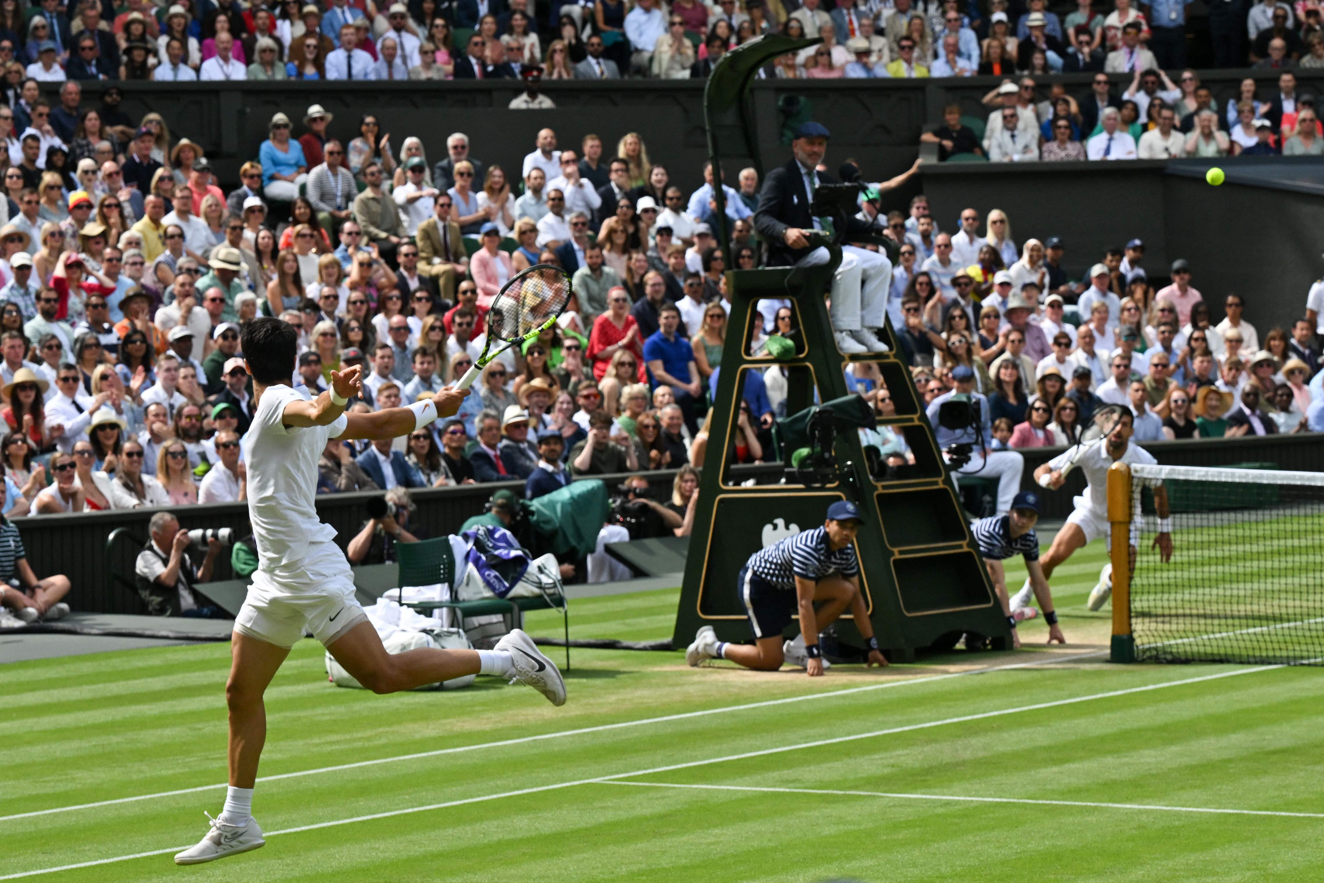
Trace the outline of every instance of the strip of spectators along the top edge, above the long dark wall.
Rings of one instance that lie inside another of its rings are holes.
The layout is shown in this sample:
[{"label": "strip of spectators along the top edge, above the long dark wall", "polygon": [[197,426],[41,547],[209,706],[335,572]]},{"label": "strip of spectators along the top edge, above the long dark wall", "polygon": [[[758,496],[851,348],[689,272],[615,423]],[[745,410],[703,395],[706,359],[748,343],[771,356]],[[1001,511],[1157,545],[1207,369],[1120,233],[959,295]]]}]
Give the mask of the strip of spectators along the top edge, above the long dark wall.
[{"label": "strip of spectators along the top edge, above the long dark wall", "polygon": [[[102,0],[0,9],[0,65],[62,79],[702,78],[765,33],[822,37],[771,64],[788,78],[1131,73],[1186,65],[1181,0]],[[986,7],[982,8],[982,7]],[[1320,7],[1223,0],[1209,8],[1214,65],[1324,66]],[[535,93],[535,103],[549,106]]]}]

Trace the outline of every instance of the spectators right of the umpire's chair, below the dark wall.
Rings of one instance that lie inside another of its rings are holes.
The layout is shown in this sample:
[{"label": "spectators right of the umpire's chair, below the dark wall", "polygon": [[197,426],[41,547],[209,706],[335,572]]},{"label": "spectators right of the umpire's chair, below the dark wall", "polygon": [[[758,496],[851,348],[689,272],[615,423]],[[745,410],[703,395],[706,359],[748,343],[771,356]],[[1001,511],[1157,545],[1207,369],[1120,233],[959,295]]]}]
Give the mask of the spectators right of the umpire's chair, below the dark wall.
[{"label": "spectators right of the umpire's chair, below the dark wall", "polygon": [[1147,267],[1140,240],[1071,278],[1061,238],[1018,249],[997,209],[967,208],[947,233],[920,196],[910,218],[888,221],[904,237],[892,323],[920,398],[951,392],[967,369],[993,450],[1072,445],[1104,404],[1131,408],[1141,442],[1324,432],[1324,283],[1301,314],[1256,330],[1243,295],[1202,294],[1185,259]]}]

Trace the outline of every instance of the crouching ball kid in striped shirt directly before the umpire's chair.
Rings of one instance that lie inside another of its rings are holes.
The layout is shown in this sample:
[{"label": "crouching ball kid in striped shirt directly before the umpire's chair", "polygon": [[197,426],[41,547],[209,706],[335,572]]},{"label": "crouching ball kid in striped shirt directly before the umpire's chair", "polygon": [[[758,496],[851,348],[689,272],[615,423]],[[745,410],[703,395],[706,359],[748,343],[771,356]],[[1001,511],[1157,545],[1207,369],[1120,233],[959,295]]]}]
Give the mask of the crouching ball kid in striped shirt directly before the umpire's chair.
[{"label": "crouching ball kid in striped shirt directly before the umpire's chair", "polygon": [[[740,569],[737,592],[749,617],[755,643],[718,641],[712,626],[703,626],[685,651],[696,666],[704,659],[730,659],[745,669],[776,671],[782,662],[804,666],[809,676],[824,673],[818,631],[837,621],[846,608],[869,645],[870,666],[886,666],[878,650],[874,624],[859,592],[859,560],[855,534],[865,516],[849,500],[828,507],[822,527],[788,536],[755,552]],[[820,606],[816,609],[814,602]],[[782,631],[800,614],[800,637],[784,641]]]}]

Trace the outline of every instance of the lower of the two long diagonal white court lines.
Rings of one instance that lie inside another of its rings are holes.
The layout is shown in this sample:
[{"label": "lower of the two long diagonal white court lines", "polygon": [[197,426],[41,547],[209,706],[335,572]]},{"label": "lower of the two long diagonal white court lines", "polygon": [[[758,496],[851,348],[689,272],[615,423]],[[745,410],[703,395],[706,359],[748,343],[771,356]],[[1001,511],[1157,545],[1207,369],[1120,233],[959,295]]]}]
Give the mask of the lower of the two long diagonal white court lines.
[{"label": "lower of the two long diagonal white court lines", "polygon": [[[998,716],[1002,716],[1002,715],[1014,715],[1014,714],[1018,714],[1018,712],[1022,712],[1022,711],[1037,711],[1037,710],[1041,710],[1041,708],[1054,708],[1054,707],[1059,707],[1059,706],[1070,706],[1070,704],[1075,704],[1075,703],[1080,703],[1080,702],[1091,702],[1094,699],[1110,699],[1112,696],[1124,696],[1124,695],[1136,694],[1136,692],[1149,692],[1149,691],[1153,691],[1153,690],[1165,690],[1168,687],[1180,687],[1180,686],[1185,686],[1185,684],[1200,683],[1200,682],[1204,682],[1204,680],[1218,680],[1221,678],[1234,678],[1237,675],[1255,674],[1255,673],[1259,673],[1259,671],[1272,671],[1275,669],[1286,669],[1286,667],[1287,666],[1255,666],[1254,669],[1238,669],[1237,671],[1223,671],[1223,673],[1211,674],[1211,675],[1201,675],[1198,678],[1185,678],[1182,680],[1168,680],[1168,682],[1164,682],[1164,683],[1149,684],[1149,686],[1145,686],[1145,687],[1131,687],[1131,688],[1127,688],[1127,690],[1111,690],[1108,692],[1096,692],[1096,694],[1092,694],[1092,695],[1088,695],[1088,696],[1076,696],[1074,699],[1059,699],[1057,702],[1041,702],[1041,703],[1035,703],[1033,706],[1019,706],[1017,708],[1002,708],[1000,711],[986,711],[986,712],[982,712],[982,714],[978,714],[978,715],[963,715],[960,718],[947,718],[945,720],[933,720],[933,721],[923,723],[923,724],[911,724],[908,727],[894,727],[891,729],[876,729],[876,731],[873,731],[873,732],[858,733],[858,735],[854,735],[854,736],[841,736],[841,737],[837,737],[837,739],[820,739],[820,740],[816,740],[816,741],[800,743],[797,745],[785,745],[782,748],[768,748],[768,749],[764,749],[764,751],[751,751],[751,752],[744,752],[744,753],[740,753],[740,755],[727,755],[724,757],[711,757],[708,760],[695,760],[695,761],[690,761],[687,764],[671,764],[669,767],[654,767],[654,768],[650,768],[650,769],[636,769],[636,770],[629,772],[629,773],[614,773],[612,776],[596,776],[593,778],[576,778],[576,780],[567,781],[567,782],[556,782],[555,785],[539,785],[539,786],[535,786],[535,788],[523,788],[523,789],[512,790],[512,792],[502,792],[499,794],[485,794],[482,797],[465,797],[462,800],[446,801],[444,804],[428,804],[426,806],[409,806],[409,808],[405,808],[405,809],[388,810],[385,813],[373,813],[371,815],[355,815],[352,818],[339,818],[339,819],[334,819],[334,821],[330,821],[330,822],[316,822],[316,823],[312,823],[312,825],[301,825],[298,827],[286,827],[286,829],[282,829],[282,830],[278,830],[278,831],[267,831],[267,833],[263,834],[263,837],[278,837],[281,834],[295,834],[295,833],[299,833],[299,831],[311,831],[311,830],[318,830],[318,829],[323,829],[323,827],[339,827],[340,825],[354,825],[355,822],[367,822],[367,821],[373,821],[373,819],[379,819],[379,818],[392,818],[392,817],[396,817],[396,815],[410,815],[413,813],[426,813],[426,812],[430,812],[430,810],[434,810],[434,809],[446,809],[449,806],[462,806],[462,805],[466,805],[466,804],[481,804],[481,802],[485,802],[485,801],[500,800],[503,797],[518,797],[518,796],[522,796],[522,794],[536,794],[536,793],[540,793],[540,792],[551,792],[551,790],[559,790],[559,789],[563,789],[563,788],[572,788],[575,785],[597,785],[597,784],[602,784],[602,782],[613,782],[614,780],[618,780],[618,778],[637,778],[638,776],[649,776],[651,773],[669,772],[669,770],[673,770],[673,769],[687,769],[687,768],[691,768],[691,767],[704,767],[704,765],[708,765],[708,764],[722,764],[722,763],[731,761],[731,760],[744,760],[747,757],[761,757],[761,756],[765,756],[765,755],[777,755],[777,753],[782,753],[782,752],[788,752],[788,751],[798,751],[801,748],[816,748],[816,747],[820,747],[820,745],[833,745],[833,744],[839,744],[839,743],[843,743],[843,741],[855,741],[855,740],[861,740],[861,739],[873,739],[875,736],[886,736],[886,735],[890,735],[890,733],[910,732],[910,731],[915,731],[915,729],[927,729],[929,727],[941,727],[941,725],[945,725],[945,724],[965,723],[965,721],[969,721],[969,720],[981,720],[981,719],[985,719],[985,718],[998,718]],[[172,846],[169,849],[152,850],[150,853],[132,853],[131,855],[117,855],[115,858],[103,858],[103,859],[97,859],[97,860],[93,860],[93,862],[81,862],[78,864],[62,864],[60,867],[38,868],[38,870],[34,870],[34,871],[20,871],[17,874],[7,874],[4,876],[0,876],[0,880],[15,880],[15,879],[24,878],[24,876],[37,876],[40,874],[53,874],[56,871],[68,871],[68,870],[79,868],[79,867],[91,867],[91,866],[95,866],[95,864],[111,864],[111,863],[115,863],[115,862],[127,862],[127,860],[131,860],[131,859],[144,858],[144,857],[150,857],[150,855],[163,855],[166,853],[177,853],[177,851],[184,850],[184,849],[188,849],[188,847],[187,846]]]}]

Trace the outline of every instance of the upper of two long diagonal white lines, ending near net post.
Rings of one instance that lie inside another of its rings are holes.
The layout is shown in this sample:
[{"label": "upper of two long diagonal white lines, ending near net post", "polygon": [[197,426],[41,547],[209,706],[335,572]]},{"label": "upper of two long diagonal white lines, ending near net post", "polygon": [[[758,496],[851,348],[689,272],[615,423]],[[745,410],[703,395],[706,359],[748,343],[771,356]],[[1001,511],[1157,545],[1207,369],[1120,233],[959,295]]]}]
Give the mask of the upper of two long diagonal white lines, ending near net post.
[{"label": "upper of two long diagonal white lines, ending near net post", "polygon": [[[1031,669],[1035,666],[1053,665],[1057,662],[1074,662],[1076,659],[1088,659],[1092,657],[1107,655],[1107,650],[1099,650],[1094,653],[1076,653],[1071,655],[1054,655],[1049,659],[1035,659],[1033,662],[1018,662],[1009,666],[982,666],[980,669],[969,669],[967,671],[953,671],[951,674],[943,675],[924,675],[920,678],[910,678],[908,680],[888,680],[886,683],[866,684],[863,687],[849,687],[846,690],[833,690],[830,692],[816,692],[804,696],[786,696],[785,699],[765,699],[763,702],[749,702],[740,706],[723,706],[720,708],[706,708],[703,711],[686,711],[675,715],[662,715],[659,718],[642,718],[639,720],[625,720],[616,724],[598,724],[596,727],[580,727],[579,729],[563,729],[552,733],[540,733],[536,736],[520,736],[518,739],[503,739],[500,741],[477,743],[473,745],[458,745],[454,748],[438,748],[436,751],[421,751],[413,755],[397,755],[395,757],[379,757],[376,760],[360,760],[352,764],[336,764],[334,767],[318,767],[315,769],[302,769],[293,773],[278,773],[275,776],[261,776],[257,781],[271,782],[282,778],[298,778],[301,776],[316,776],[320,773],[339,772],[342,769],[359,769],[363,767],[376,767],[379,764],[393,764],[401,760],[418,760],[422,757],[440,757],[442,755],[458,755],[470,751],[481,751],[486,748],[503,748],[507,745],[520,745],[532,741],[542,741],[545,739],[564,739],[567,736],[584,736],[587,733],[606,732],[612,729],[624,729],[628,727],[645,727],[650,724],[670,723],[673,720],[687,720],[690,718],[704,718],[707,715],[719,715],[732,711],[748,711],[751,708],[768,708],[772,706],[782,706],[793,702],[808,702],[812,699],[833,699],[837,696],[854,695],[861,692],[870,692],[874,690],[890,690],[892,687],[907,687],[915,683],[929,683],[933,680],[949,680],[952,678],[964,678],[967,675],[988,674],[996,671],[1005,671],[1009,669]],[[94,801],[90,804],[73,804],[70,806],[56,806],[53,809],[38,809],[29,813],[15,813],[12,815],[0,815],[0,822],[8,822],[16,818],[32,818],[34,815],[50,815],[54,813],[69,813],[79,809],[93,809],[95,806],[111,806],[115,804],[132,804],[144,800],[159,800],[162,797],[177,797],[179,794],[196,794],[200,792],[216,790],[225,788],[226,782],[220,782],[216,785],[197,785],[195,788],[179,788],[168,792],[156,792],[152,794],[138,794],[135,797],[115,797],[111,800]],[[0,878],[4,879],[4,878]]]}]

